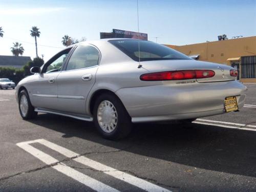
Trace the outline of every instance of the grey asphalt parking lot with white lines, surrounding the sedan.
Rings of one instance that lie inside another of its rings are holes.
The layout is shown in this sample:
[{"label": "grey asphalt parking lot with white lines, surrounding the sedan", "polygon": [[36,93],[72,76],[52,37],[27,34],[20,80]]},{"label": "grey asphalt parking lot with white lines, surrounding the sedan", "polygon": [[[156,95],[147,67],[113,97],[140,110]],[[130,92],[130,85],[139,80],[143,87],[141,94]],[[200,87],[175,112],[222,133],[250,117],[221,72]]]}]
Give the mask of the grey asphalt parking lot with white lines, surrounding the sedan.
[{"label": "grey asphalt parking lot with white lines, surrounding the sedan", "polygon": [[256,191],[256,84],[246,86],[240,112],[134,124],[120,141],[68,117],[22,120],[14,90],[0,90],[0,191]]}]

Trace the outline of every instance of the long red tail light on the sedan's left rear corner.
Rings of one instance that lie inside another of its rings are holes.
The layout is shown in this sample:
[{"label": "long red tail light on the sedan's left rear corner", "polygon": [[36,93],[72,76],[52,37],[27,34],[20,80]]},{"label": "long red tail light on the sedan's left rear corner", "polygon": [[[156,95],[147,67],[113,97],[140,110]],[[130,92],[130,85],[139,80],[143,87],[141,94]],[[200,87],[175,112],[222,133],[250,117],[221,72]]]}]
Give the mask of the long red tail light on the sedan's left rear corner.
[{"label": "long red tail light on the sedan's left rear corner", "polygon": [[182,70],[182,71],[165,71],[157,73],[147,73],[140,76],[143,81],[165,81],[165,80],[185,80],[185,79],[202,79],[215,76],[211,70]]}]

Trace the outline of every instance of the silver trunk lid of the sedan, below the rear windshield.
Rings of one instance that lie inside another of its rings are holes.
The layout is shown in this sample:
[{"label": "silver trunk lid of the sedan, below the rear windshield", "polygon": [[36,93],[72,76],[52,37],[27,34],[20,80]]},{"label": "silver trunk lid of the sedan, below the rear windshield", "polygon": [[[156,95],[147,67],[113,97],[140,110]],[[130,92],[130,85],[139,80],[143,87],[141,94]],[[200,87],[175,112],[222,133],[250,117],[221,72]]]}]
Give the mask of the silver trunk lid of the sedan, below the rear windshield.
[{"label": "silver trunk lid of the sedan, below the rear windshield", "polygon": [[196,79],[197,82],[230,81],[236,79],[236,77],[230,76],[230,69],[233,68],[211,62],[196,60],[154,60],[143,61],[141,65],[149,73],[178,70],[212,70],[215,72],[214,77]]}]

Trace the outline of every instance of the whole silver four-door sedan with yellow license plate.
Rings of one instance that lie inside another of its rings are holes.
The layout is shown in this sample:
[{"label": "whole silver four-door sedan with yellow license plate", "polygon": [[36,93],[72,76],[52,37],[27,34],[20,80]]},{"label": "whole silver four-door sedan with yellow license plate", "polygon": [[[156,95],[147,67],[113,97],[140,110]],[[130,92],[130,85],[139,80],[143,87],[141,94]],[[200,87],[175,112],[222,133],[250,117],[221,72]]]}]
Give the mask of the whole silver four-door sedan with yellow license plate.
[{"label": "whole silver four-door sedan with yellow license plate", "polygon": [[16,87],[23,119],[41,112],[94,121],[108,139],[127,136],[132,122],[239,111],[247,90],[229,66],[136,39],[72,45],[31,73]]}]

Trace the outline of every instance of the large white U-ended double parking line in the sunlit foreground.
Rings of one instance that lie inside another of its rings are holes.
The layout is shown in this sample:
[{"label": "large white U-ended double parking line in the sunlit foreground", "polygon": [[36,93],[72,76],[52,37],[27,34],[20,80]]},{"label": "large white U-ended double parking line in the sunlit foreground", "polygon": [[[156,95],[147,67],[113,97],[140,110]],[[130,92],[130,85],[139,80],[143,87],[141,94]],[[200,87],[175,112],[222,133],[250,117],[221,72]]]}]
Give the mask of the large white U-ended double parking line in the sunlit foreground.
[{"label": "large white U-ended double parking line in the sunlit foreground", "polygon": [[[34,157],[40,159],[41,161],[45,162],[46,164],[48,164],[48,165],[53,164],[52,167],[54,169],[58,170],[59,172],[65,174],[65,175],[67,175],[67,176],[69,176],[69,177],[71,177],[71,178],[97,190],[97,191],[118,191],[118,190],[82,174],[82,173],[78,172],[77,170],[69,167],[68,165],[65,165],[63,163],[58,163],[59,161],[57,159],[49,156],[48,154],[46,154],[44,152],[37,150],[35,147],[30,145],[31,143],[40,143],[42,145],[45,145],[45,146],[51,148],[52,150],[66,156],[68,158],[72,158],[72,160],[74,160],[76,162],[79,162],[81,164],[89,166],[95,170],[99,170],[100,172],[103,172],[104,174],[110,175],[116,179],[122,180],[126,183],[132,184],[132,185],[139,187],[141,189],[144,189],[146,191],[152,191],[152,192],[153,191],[169,191],[170,192],[170,190],[167,190],[163,187],[155,185],[151,182],[148,182],[143,179],[132,176],[130,174],[121,172],[120,170],[106,166],[102,163],[99,163],[99,162],[89,159],[87,157],[80,156],[79,154],[72,152],[65,147],[59,146],[59,145],[52,143],[50,141],[47,141],[45,139],[37,139],[37,140],[33,140],[33,141],[21,142],[21,143],[16,144],[17,146],[23,148],[23,150],[27,151],[28,153],[30,153]],[[57,165],[55,165],[56,163],[57,163]],[[95,184],[97,184],[97,186]]]}]

